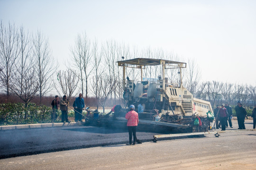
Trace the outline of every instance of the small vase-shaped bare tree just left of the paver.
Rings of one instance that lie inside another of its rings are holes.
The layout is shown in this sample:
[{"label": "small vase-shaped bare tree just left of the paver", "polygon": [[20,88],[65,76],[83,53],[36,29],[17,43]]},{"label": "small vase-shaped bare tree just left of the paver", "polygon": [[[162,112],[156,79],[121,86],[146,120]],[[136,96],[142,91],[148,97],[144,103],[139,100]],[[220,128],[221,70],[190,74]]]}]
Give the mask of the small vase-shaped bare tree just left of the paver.
[{"label": "small vase-shaped bare tree just left of the paver", "polygon": [[103,113],[105,113],[105,105],[110,94],[114,91],[116,79],[112,76],[102,75],[99,77],[98,81],[93,78],[92,85],[96,86],[98,84],[98,90],[92,88],[92,91],[96,97],[96,100],[103,107]]}]

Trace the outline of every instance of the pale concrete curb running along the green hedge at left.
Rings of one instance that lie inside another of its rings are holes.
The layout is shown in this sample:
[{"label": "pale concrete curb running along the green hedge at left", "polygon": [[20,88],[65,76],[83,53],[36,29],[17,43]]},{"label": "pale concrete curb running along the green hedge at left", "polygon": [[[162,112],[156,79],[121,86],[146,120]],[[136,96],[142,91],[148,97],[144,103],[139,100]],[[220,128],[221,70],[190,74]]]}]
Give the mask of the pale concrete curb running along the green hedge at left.
[{"label": "pale concrete curb running along the green hedge at left", "polygon": [[7,126],[0,126],[0,130],[12,130],[12,129],[24,129],[24,128],[68,127],[68,126],[79,126],[79,125],[84,125],[84,122],[7,125]]}]

